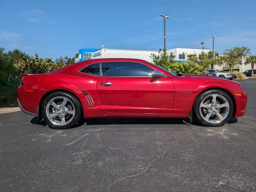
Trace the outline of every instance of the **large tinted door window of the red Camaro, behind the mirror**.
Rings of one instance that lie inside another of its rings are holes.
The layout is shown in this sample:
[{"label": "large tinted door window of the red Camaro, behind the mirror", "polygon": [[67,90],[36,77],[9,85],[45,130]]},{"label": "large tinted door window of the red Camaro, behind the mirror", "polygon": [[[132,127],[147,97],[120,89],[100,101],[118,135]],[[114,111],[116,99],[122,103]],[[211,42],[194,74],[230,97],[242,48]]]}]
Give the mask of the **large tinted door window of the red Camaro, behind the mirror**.
[{"label": "large tinted door window of the red Camaro, behind the mirror", "polygon": [[102,63],[102,76],[151,76],[154,70],[146,65],[134,62],[107,62]]}]

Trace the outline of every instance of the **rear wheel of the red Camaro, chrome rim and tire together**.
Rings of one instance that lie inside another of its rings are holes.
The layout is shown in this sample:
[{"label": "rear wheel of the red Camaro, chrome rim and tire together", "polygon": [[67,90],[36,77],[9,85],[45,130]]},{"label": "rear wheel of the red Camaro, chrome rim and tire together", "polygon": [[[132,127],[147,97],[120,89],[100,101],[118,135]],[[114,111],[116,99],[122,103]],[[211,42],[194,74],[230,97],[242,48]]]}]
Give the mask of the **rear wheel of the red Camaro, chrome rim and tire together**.
[{"label": "rear wheel of the red Camaro, chrome rim and tire together", "polygon": [[80,102],[66,92],[55,92],[44,100],[42,115],[47,124],[56,129],[74,126],[81,118]]}]

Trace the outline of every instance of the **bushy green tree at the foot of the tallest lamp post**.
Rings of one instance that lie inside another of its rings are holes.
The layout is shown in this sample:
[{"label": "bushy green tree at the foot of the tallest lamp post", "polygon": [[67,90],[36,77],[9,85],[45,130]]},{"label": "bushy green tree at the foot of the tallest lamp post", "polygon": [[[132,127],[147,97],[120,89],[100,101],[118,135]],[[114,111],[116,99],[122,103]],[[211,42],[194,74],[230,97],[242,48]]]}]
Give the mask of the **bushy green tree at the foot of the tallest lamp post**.
[{"label": "bushy green tree at the foot of the tallest lamp post", "polygon": [[152,58],[154,64],[165,68],[168,70],[170,65],[174,63],[174,54],[171,52],[170,55],[167,54],[166,50],[159,49],[158,54],[151,54],[150,58]]}]

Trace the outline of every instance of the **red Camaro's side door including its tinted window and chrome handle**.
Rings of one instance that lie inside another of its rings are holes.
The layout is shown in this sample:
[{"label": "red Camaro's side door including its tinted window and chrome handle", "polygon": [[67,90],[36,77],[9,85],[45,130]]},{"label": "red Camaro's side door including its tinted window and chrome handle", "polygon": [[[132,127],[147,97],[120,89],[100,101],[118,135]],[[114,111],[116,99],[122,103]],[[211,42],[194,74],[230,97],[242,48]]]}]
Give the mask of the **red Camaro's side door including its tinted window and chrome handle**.
[{"label": "red Camaro's side door including its tinted window and chrome handle", "polygon": [[109,113],[171,114],[172,78],[154,78],[154,70],[136,62],[101,63],[98,96]]}]

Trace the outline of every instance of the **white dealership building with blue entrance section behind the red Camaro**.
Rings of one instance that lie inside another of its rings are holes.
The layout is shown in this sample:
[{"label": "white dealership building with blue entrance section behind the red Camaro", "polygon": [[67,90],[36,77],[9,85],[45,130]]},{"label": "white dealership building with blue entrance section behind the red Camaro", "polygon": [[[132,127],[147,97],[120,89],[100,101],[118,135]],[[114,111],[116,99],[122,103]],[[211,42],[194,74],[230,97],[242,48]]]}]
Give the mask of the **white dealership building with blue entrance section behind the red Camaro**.
[{"label": "white dealership building with blue entrance section behind the red Camaro", "polygon": [[[188,55],[196,54],[199,56],[203,50],[202,49],[188,49],[188,48],[173,48],[168,49],[166,52],[170,54],[171,52],[174,54],[174,60],[176,62],[182,61],[185,62],[188,59]],[[205,49],[204,52],[208,53],[210,50]],[[86,48],[79,50],[79,60],[76,62],[84,61],[88,59],[98,59],[98,58],[136,58],[146,60],[148,62],[152,62],[150,58],[151,54],[158,54],[157,50],[130,50],[130,49],[110,49],[110,48]],[[214,65],[215,69],[218,70],[228,70],[223,68],[223,66]],[[239,70],[240,72],[244,72],[246,70],[250,70],[250,65],[241,65],[239,67],[234,68]]]}]

